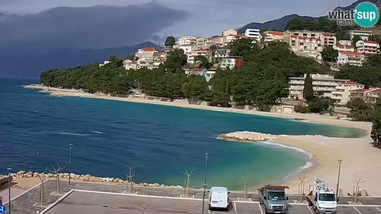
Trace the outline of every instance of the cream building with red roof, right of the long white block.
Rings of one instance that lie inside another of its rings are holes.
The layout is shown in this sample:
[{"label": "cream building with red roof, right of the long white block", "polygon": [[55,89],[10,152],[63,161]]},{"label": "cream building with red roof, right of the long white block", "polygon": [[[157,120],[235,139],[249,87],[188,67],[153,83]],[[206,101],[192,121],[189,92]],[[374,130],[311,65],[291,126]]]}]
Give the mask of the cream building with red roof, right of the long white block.
[{"label": "cream building with red roof, right of the long white block", "polygon": [[349,101],[351,91],[363,89],[365,85],[355,81],[339,82],[336,86],[336,91],[332,91],[331,99],[335,100],[337,104],[346,104]]}]

